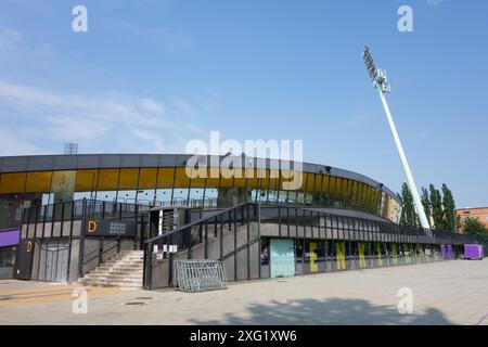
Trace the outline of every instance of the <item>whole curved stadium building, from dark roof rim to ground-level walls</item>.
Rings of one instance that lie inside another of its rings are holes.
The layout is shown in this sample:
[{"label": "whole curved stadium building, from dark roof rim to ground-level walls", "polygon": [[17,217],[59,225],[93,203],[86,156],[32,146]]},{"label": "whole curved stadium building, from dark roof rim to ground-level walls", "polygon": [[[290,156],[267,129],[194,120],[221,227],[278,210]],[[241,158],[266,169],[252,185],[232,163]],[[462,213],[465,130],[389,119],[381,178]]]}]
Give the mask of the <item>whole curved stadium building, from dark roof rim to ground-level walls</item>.
[{"label": "whole curved stadium building, from dark roof rim to ground-level walls", "polygon": [[486,243],[399,226],[400,198],[360,174],[249,157],[226,171],[226,156],[189,171],[191,158],[0,157],[0,242],[20,239],[0,243],[0,277],[151,290],[175,284],[182,259],[220,260],[239,281],[450,259]]}]

